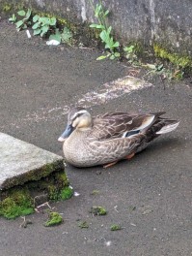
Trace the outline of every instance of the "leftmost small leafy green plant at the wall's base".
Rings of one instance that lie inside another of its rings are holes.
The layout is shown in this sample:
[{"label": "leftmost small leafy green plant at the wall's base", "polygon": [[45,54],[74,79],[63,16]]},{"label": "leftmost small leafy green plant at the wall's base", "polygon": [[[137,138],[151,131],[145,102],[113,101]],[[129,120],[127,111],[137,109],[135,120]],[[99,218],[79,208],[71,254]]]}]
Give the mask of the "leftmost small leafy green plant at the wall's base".
[{"label": "leftmost small leafy green plant at the wall's base", "polygon": [[14,16],[14,20],[11,20],[12,22],[15,22],[16,30],[19,31],[20,29],[26,29],[29,25],[31,25],[30,17],[31,17],[31,10],[28,9],[27,12],[24,10],[20,10],[17,12],[18,16],[21,16],[22,18],[18,21],[16,21],[16,17]]}]

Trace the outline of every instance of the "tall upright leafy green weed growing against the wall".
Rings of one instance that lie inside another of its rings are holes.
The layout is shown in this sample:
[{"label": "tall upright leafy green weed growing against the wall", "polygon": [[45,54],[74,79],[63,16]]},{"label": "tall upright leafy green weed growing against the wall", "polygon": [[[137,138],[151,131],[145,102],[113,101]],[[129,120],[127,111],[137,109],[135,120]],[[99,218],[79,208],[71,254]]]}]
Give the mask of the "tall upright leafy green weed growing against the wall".
[{"label": "tall upright leafy green weed growing against the wall", "polygon": [[120,57],[120,52],[118,51],[120,43],[118,41],[114,41],[114,38],[111,35],[112,26],[108,26],[106,22],[106,17],[109,14],[109,10],[104,10],[101,0],[99,1],[99,4],[96,4],[96,7],[94,6],[92,0],[90,0],[90,3],[92,4],[92,8],[98,21],[98,23],[91,24],[90,27],[96,28],[101,31],[99,34],[101,42],[104,43],[105,48],[109,50],[107,55],[99,56],[97,60],[104,59],[107,57],[109,57],[110,59]]}]

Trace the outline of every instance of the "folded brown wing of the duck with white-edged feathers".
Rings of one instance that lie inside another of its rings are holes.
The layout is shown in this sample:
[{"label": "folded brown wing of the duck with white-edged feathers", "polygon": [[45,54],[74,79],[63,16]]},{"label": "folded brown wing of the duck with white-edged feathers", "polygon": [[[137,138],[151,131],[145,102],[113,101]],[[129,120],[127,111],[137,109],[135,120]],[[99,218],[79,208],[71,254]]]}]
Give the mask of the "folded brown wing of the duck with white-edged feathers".
[{"label": "folded brown wing of the duck with white-edged feathers", "polygon": [[129,137],[147,129],[162,113],[111,112],[94,118],[91,136],[98,141]]}]

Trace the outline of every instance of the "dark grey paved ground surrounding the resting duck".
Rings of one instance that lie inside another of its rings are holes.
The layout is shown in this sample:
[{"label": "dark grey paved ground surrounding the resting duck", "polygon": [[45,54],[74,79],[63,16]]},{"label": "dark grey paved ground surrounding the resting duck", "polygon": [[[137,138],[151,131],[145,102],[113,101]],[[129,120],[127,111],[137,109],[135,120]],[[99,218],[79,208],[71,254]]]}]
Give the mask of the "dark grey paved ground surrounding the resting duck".
[{"label": "dark grey paved ground surrounding the resting duck", "polygon": [[[102,90],[103,83],[132,74],[123,63],[96,61],[99,54],[90,48],[50,48],[0,21],[1,132],[62,155],[57,139],[69,106]],[[27,216],[33,224],[24,229],[22,218],[0,218],[0,255],[192,255],[192,87],[190,80],[152,83],[93,102],[89,110],[166,111],[180,120],[178,130],[107,170],[68,166],[70,183],[80,195],[51,205],[65,222],[45,228],[46,214],[35,213]],[[93,190],[98,193],[92,195]],[[93,206],[106,208],[107,215],[93,216]],[[80,229],[78,220],[89,228]],[[123,229],[110,231],[112,224]]]}]

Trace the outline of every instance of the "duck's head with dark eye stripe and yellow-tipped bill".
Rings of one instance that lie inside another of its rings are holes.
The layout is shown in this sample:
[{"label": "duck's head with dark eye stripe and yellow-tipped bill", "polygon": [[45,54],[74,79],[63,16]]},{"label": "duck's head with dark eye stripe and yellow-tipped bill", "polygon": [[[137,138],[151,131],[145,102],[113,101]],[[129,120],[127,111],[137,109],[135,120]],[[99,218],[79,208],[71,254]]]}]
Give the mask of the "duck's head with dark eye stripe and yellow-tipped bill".
[{"label": "duck's head with dark eye stripe and yellow-tipped bill", "polygon": [[84,108],[77,107],[69,111],[68,124],[64,133],[58,139],[64,142],[75,129],[87,129],[92,126],[92,116]]}]

